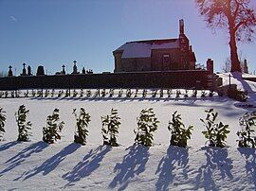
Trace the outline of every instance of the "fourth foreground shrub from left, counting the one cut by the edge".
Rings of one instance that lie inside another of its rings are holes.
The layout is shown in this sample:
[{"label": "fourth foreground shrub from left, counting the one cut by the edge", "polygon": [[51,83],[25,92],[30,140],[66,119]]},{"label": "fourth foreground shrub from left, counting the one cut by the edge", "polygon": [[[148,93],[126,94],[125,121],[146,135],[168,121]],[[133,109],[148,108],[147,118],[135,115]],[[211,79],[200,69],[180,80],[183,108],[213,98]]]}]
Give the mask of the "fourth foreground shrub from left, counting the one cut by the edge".
[{"label": "fourth foreground shrub from left, counting the one cut by the edge", "polygon": [[84,146],[86,144],[86,137],[88,136],[87,127],[91,121],[91,116],[89,113],[86,113],[83,108],[80,109],[79,115],[76,113],[76,109],[73,110],[73,114],[75,115],[77,121],[74,142]]}]

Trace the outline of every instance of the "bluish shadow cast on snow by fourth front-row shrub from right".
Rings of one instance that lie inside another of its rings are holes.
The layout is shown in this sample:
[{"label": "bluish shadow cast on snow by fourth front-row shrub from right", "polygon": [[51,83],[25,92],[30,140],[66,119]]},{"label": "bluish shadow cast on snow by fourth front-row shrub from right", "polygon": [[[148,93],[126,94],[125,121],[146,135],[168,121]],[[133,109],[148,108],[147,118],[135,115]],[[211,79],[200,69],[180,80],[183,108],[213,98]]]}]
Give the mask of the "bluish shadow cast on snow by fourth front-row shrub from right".
[{"label": "bluish shadow cast on snow by fourth front-row shrub from right", "polygon": [[134,145],[129,149],[121,164],[117,164],[114,168],[114,172],[117,173],[116,177],[110,182],[109,187],[115,188],[120,185],[119,190],[124,190],[132,179],[145,171],[146,163],[149,159],[149,148]]}]

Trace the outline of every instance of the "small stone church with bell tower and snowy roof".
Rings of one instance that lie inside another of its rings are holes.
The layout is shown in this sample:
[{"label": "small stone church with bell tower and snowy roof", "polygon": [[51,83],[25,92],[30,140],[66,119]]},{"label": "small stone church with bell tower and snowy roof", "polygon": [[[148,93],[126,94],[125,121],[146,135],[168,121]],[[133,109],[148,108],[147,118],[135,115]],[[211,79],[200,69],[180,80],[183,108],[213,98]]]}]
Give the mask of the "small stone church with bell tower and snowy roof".
[{"label": "small stone church with bell tower and snowy roof", "polygon": [[179,21],[179,37],[128,42],[113,51],[115,73],[141,71],[194,70],[195,55]]}]

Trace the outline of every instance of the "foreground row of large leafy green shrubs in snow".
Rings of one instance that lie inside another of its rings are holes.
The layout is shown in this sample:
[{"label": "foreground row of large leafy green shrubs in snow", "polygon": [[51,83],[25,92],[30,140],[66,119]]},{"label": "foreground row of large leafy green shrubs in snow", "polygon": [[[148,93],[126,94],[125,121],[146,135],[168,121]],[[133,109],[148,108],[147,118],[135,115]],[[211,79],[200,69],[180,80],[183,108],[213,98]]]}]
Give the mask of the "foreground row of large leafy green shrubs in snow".
[{"label": "foreground row of large leafy green shrubs in snow", "polygon": [[[224,125],[223,122],[216,123],[218,113],[213,109],[205,111],[207,113],[205,119],[200,119],[205,126],[202,131],[205,138],[208,140],[210,147],[224,148],[226,146],[227,136],[229,134],[229,125]],[[16,116],[18,126],[18,141],[28,141],[31,136],[30,130],[32,123],[27,121],[29,111],[24,105],[19,107]],[[88,126],[91,121],[89,113],[81,108],[79,113],[76,109],[73,110],[76,118],[74,142],[86,145],[88,136]],[[2,140],[5,132],[6,115],[3,108],[0,108],[0,139]],[[256,125],[256,113],[246,113],[239,120],[241,130],[237,131],[239,137],[238,146],[242,148],[255,148],[256,138],[253,136],[253,127]],[[118,147],[117,136],[119,134],[120,117],[116,109],[112,109],[111,113],[106,116],[101,116],[101,133],[103,145]],[[146,147],[153,146],[154,132],[158,128],[159,121],[157,120],[153,108],[142,110],[137,117],[137,129],[135,132],[135,144],[141,144]],[[43,141],[48,144],[53,144],[58,139],[61,139],[60,132],[64,129],[64,121],[60,120],[59,109],[55,109],[51,115],[46,117],[46,127],[43,128]],[[182,122],[181,115],[177,112],[172,114],[169,121],[168,130],[171,132],[170,144],[186,148],[188,140],[191,139],[193,126],[185,127]]]}]

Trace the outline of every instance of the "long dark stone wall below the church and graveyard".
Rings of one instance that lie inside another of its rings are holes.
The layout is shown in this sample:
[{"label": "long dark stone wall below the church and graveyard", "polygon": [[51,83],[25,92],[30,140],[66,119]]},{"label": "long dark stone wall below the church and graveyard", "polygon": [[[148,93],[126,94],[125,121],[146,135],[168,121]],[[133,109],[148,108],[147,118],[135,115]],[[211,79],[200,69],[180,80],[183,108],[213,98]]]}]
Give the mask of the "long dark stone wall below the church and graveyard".
[{"label": "long dark stone wall below the church and graveyard", "polygon": [[211,89],[208,71],[172,71],[0,78],[0,90],[68,88]]}]

